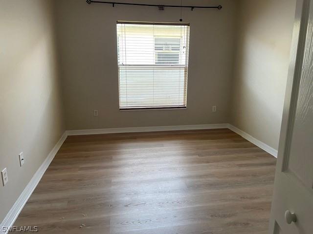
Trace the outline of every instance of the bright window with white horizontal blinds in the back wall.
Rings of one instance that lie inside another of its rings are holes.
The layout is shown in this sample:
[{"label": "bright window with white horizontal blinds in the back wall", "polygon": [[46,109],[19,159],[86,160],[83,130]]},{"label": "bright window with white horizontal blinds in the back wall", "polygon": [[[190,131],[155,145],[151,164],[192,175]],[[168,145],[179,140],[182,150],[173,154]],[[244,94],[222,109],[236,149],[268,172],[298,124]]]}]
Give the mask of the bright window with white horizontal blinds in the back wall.
[{"label": "bright window with white horizontal blinds in the back wall", "polygon": [[120,109],[185,108],[189,25],[117,21]]}]

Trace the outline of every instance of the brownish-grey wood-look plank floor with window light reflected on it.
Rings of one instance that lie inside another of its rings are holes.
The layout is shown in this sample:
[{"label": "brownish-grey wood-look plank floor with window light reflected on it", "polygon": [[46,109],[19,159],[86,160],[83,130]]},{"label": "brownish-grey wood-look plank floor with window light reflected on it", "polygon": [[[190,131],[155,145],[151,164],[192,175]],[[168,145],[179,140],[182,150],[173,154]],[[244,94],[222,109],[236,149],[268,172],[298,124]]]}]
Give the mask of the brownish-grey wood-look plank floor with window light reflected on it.
[{"label": "brownish-grey wood-look plank floor with window light reflected on it", "polygon": [[14,225],[41,234],[268,234],[275,163],[228,129],[67,137]]}]

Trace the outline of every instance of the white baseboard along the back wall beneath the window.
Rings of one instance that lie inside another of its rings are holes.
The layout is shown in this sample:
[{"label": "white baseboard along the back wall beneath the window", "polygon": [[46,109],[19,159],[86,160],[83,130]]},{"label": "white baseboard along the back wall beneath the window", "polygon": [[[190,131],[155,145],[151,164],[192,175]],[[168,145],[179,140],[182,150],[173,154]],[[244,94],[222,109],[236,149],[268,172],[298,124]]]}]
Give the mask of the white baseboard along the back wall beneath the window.
[{"label": "white baseboard along the back wall beneath the window", "polygon": [[142,132],[178,131],[178,130],[222,129],[222,128],[228,128],[228,124],[221,123],[221,124],[202,124],[202,125],[68,130],[67,136],[110,134],[110,133],[142,133]]}]

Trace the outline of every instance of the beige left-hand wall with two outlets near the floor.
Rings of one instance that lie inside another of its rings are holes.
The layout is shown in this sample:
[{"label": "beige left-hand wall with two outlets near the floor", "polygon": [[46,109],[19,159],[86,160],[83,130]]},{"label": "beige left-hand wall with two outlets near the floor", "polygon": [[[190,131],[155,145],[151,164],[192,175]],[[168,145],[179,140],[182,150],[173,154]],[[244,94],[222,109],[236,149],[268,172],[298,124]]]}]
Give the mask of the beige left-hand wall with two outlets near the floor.
[{"label": "beige left-hand wall with two outlets near the floor", "polygon": [[52,11],[48,0],[0,1],[0,222],[65,131]]}]

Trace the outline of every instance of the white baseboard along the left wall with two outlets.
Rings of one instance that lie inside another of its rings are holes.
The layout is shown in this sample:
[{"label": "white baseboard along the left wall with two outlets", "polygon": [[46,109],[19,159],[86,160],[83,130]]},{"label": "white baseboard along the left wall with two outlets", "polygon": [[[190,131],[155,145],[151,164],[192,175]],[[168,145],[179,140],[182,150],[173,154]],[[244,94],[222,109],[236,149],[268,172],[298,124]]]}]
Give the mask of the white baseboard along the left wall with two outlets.
[{"label": "white baseboard along the left wall with two outlets", "polygon": [[45,174],[46,169],[50,165],[52,159],[54,156],[58,153],[58,150],[62,146],[63,142],[67,138],[67,132],[65,132],[60,140],[56,143],[56,145],[53,147],[49,155],[46,157],[43,164],[40,166],[40,168],[37,170],[37,172],[34,174],[34,176],[31,178],[25,189],[23,190],[22,194],[19,196],[17,201],[14,203],[13,207],[9,211],[9,213],[5,216],[4,220],[0,224],[0,233],[7,234],[7,231],[3,232],[4,230],[2,227],[11,227],[15,220],[17,219],[18,215],[22,211],[24,205],[26,204],[28,198],[35,190],[36,186],[38,185],[40,179]]}]

